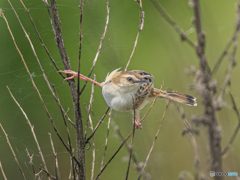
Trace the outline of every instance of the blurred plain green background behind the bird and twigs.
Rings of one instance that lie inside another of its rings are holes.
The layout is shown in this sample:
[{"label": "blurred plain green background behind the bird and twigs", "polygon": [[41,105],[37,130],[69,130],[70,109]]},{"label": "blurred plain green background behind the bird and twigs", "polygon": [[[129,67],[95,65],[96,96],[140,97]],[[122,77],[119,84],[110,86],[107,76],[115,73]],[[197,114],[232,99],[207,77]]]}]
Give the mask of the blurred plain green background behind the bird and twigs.
[{"label": "blurred plain green background behind the bird and twigs", "polygon": [[[41,46],[39,39],[32,27],[27,13],[18,1],[12,2],[19,17],[34,43],[38,57],[42,63],[46,75],[54,84],[56,91],[61,99],[65,110],[69,108],[68,115],[73,117],[73,107],[68,83],[56,73],[56,69]],[[47,8],[41,0],[24,0],[36,23],[39,33],[52,57],[56,61],[59,69],[63,69],[59,51],[54,41],[54,35],[49,22]],[[62,22],[64,43],[73,70],[77,70],[78,47],[79,47],[79,1],[59,0],[58,10]],[[159,0],[168,14],[186,32],[188,37],[195,42],[196,33],[192,24],[193,10],[189,7],[188,0]],[[83,6],[83,38],[82,38],[82,61],[81,73],[87,75],[92,66],[92,61],[97,52],[97,48],[102,36],[106,21],[106,0],[84,1]],[[206,34],[206,57],[211,68],[213,68],[217,58],[223,51],[228,39],[234,31],[236,21],[237,0],[211,0],[201,1],[202,28]],[[63,125],[61,113],[55,103],[32,53],[30,45],[14,15],[7,0],[0,1],[0,8],[3,9],[9,21],[15,40],[21,50],[25,61],[34,75],[34,80],[39,88],[44,101],[54,119],[64,140],[67,142],[66,130]],[[159,88],[162,81],[165,81],[163,89],[177,90],[191,94],[198,98],[197,107],[184,106],[187,119],[190,121],[192,115],[201,115],[203,107],[201,97],[194,91],[189,90],[193,85],[193,77],[185,73],[184,69],[191,65],[198,68],[198,58],[194,49],[187,43],[182,42],[179,35],[175,32],[163,17],[157,12],[150,1],[143,1],[143,11],[145,12],[144,28],[140,33],[138,45],[129,70],[145,70],[154,75],[155,87]],[[134,41],[139,26],[139,6],[136,1],[110,0],[110,20],[101,54],[98,58],[93,74],[96,74],[99,82],[104,81],[108,72],[122,67],[125,68],[129,56],[132,52]],[[239,59],[239,50],[236,61]],[[221,88],[226,75],[229,61],[224,59],[218,73],[213,77],[218,81],[218,88]],[[236,66],[232,73],[230,90],[233,93],[238,107],[240,107],[240,69]],[[92,76],[93,77],[93,76]],[[46,159],[49,171],[54,174],[54,156],[52,154],[49,135],[52,133],[54,145],[58,153],[59,165],[62,179],[67,179],[69,175],[69,154],[56,137],[49,119],[39,101],[38,95],[33,88],[29,76],[23,66],[21,58],[16,51],[6,23],[0,18],[0,123],[5,128],[8,137],[15,150],[19,163],[27,179],[33,179],[32,168],[29,165],[29,158],[26,155],[27,148],[34,154],[33,162],[36,171],[40,167],[41,160],[30,132],[29,125],[14,103],[6,86],[9,86],[13,95],[27,113],[30,121],[34,125],[36,135]],[[83,83],[82,83],[83,84]],[[81,107],[84,124],[87,119],[85,106],[89,104],[91,84],[88,83],[86,90],[81,96]],[[217,117],[222,127],[222,148],[225,147],[231,137],[238,119],[231,108],[231,101],[226,94],[224,100],[227,102],[226,108],[218,112]],[[154,136],[157,132],[159,122],[165,110],[166,102],[160,99],[156,102],[152,111],[143,122],[143,130],[137,130],[134,140],[134,153],[139,162],[144,162],[147,153],[152,145]],[[150,104],[141,112],[143,115]],[[107,105],[102,97],[101,89],[95,87],[92,119],[94,126],[105,112]],[[113,111],[112,125],[118,125],[123,136],[127,137],[132,130],[131,113]],[[72,141],[75,145],[75,131],[69,125]],[[170,105],[165,121],[153,149],[151,157],[146,167],[146,172],[150,173],[152,179],[178,179],[180,174],[188,174],[187,179],[193,179],[194,172],[194,152],[189,136],[181,136],[185,129],[181,116],[175,106]],[[201,156],[201,166],[206,177],[209,177],[210,156],[207,139],[207,129],[196,127],[200,135],[196,137]],[[89,129],[90,132],[90,129]],[[101,158],[104,152],[105,137],[107,133],[107,118],[101,124],[95,136],[96,145],[96,168],[98,173]],[[237,135],[233,146],[223,157],[223,170],[225,172],[240,173],[240,135]],[[109,145],[105,162],[116,151],[121,141],[114,132],[113,126],[110,128]],[[123,148],[108,168],[103,172],[102,179],[124,179],[127,169],[127,161],[124,157],[129,154]],[[21,179],[14,158],[6,143],[4,134],[0,130],[0,160],[8,179]],[[92,151],[86,150],[86,172],[87,179],[90,179],[92,161]],[[129,179],[136,179],[138,172],[131,166]],[[42,175],[43,176],[43,175]],[[0,175],[0,179],[2,179]],[[46,176],[43,176],[46,179]]]}]

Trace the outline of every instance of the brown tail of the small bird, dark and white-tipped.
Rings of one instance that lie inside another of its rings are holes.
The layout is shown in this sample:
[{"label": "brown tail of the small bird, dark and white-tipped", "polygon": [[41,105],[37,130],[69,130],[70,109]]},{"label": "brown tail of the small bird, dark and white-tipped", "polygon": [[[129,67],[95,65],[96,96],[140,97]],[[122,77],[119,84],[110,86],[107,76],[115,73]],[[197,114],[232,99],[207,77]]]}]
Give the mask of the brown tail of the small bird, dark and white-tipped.
[{"label": "brown tail of the small bird, dark and white-tipped", "polygon": [[189,106],[197,106],[196,98],[187,94],[181,94],[177,92],[167,92],[154,88],[149,97],[160,97],[169,100],[173,100]]}]

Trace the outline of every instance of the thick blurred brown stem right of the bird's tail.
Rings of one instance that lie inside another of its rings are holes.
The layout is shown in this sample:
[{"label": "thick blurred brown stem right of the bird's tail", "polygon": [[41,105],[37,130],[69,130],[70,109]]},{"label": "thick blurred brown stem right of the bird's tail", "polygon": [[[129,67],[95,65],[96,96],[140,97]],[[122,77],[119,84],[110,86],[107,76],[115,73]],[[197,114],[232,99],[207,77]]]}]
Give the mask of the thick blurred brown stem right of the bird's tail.
[{"label": "thick blurred brown stem right of the bird's tail", "polygon": [[[201,96],[204,105],[204,118],[210,123],[208,125],[209,147],[212,157],[211,170],[214,172],[222,172],[222,156],[221,156],[221,132],[218,126],[216,110],[212,102],[212,93],[209,88],[211,80],[211,72],[205,57],[205,35],[202,32],[200,4],[199,0],[193,0],[193,10],[195,17],[195,26],[197,30],[197,47],[196,52],[200,61],[200,73],[196,77],[199,86],[201,86]],[[215,180],[223,179],[222,176],[215,176]]]}]

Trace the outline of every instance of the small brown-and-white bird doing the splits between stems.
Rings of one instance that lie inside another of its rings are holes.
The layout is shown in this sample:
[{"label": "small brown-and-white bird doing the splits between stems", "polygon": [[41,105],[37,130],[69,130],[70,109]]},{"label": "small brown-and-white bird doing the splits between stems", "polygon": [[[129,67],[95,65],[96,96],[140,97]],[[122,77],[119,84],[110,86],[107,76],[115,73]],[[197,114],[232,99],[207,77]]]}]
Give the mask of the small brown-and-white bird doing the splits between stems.
[{"label": "small brown-and-white bird doing the splits between stems", "polygon": [[[142,129],[141,123],[139,122],[140,110],[146,105],[148,100],[159,97],[189,106],[197,106],[195,97],[154,88],[152,74],[140,70],[119,71],[119,69],[108,74],[103,83],[96,82],[82,74],[80,74],[79,78],[85,81],[91,81],[102,87],[103,97],[112,109],[122,112],[134,112],[135,110],[135,117],[133,117],[132,120],[133,122],[135,121],[135,127],[137,129]],[[65,81],[78,77],[78,73],[71,70],[59,72],[72,75],[66,78]]]}]

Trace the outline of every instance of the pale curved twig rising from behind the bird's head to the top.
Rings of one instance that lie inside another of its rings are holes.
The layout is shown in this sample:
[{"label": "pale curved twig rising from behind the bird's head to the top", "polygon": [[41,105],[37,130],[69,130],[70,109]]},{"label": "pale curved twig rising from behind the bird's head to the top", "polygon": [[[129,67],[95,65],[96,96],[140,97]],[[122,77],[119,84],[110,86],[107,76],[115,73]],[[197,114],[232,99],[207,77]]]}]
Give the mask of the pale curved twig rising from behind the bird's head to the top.
[{"label": "pale curved twig rising from behind the bird's head to the top", "polygon": [[143,26],[144,26],[144,12],[143,12],[143,10],[142,10],[142,0],[137,0],[137,2],[138,2],[139,7],[140,7],[140,10],[139,10],[139,19],[140,19],[140,20],[139,20],[138,33],[137,33],[136,40],[135,40],[135,42],[134,42],[134,46],[133,46],[132,53],[131,53],[131,55],[130,55],[130,57],[129,57],[129,60],[128,60],[128,62],[127,62],[127,65],[126,65],[124,71],[127,70],[128,66],[129,66],[129,64],[130,64],[130,62],[131,62],[131,60],[132,60],[133,54],[134,54],[135,49],[136,49],[136,47],[137,47],[139,34],[140,34],[140,32],[142,31]]}]

